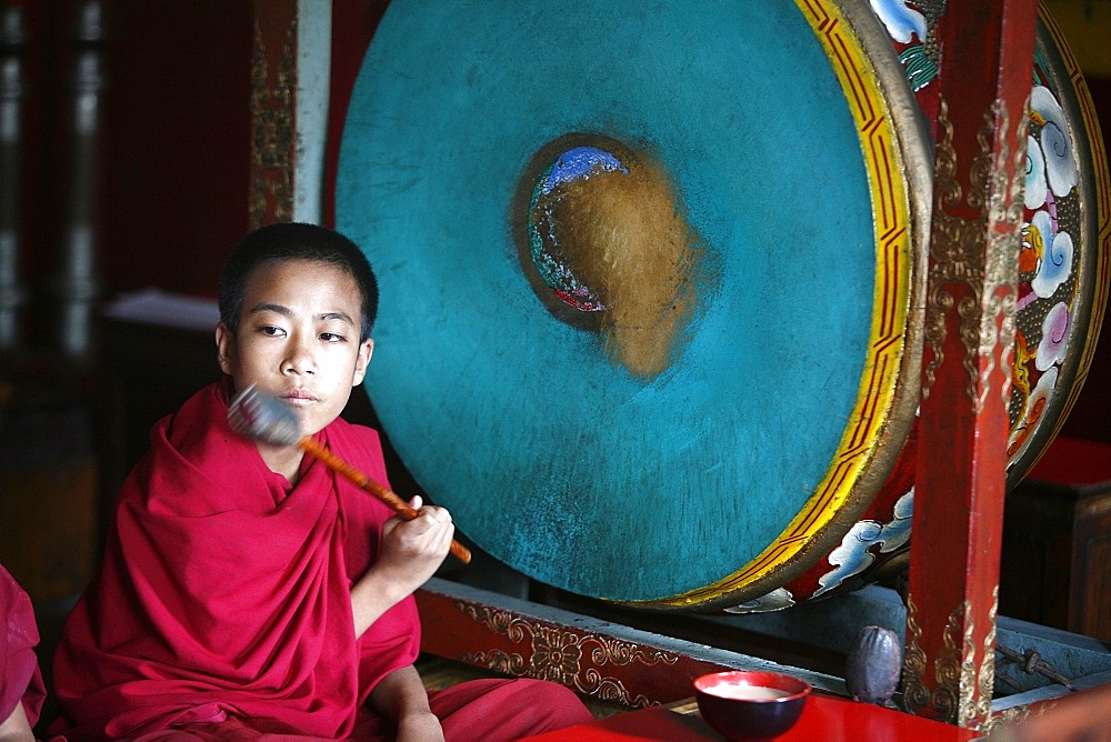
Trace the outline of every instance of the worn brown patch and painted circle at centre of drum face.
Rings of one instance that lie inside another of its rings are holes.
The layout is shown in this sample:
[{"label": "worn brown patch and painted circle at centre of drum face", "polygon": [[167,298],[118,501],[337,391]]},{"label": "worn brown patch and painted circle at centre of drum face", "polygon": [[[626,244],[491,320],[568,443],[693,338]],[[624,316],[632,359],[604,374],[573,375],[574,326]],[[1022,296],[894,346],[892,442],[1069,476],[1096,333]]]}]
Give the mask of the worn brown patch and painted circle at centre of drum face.
[{"label": "worn brown patch and painted circle at centre of drum face", "polygon": [[523,184],[519,247],[538,294],[558,318],[595,331],[614,365],[659,375],[708,283],[707,251],[669,173],[617,140],[571,134],[538,152]]}]

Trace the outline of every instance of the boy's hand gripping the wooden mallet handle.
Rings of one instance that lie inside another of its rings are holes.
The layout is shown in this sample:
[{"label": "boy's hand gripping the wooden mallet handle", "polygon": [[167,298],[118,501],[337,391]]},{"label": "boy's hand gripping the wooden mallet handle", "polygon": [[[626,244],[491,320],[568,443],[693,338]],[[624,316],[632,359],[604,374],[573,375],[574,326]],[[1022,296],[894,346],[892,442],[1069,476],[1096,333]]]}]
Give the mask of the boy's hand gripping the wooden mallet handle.
[{"label": "boy's hand gripping the wooden mallet handle", "polygon": [[397,515],[383,524],[379,562],[382,566],[403,571],[416,590],[436,573],[448,555],[456,527],[451,513],[423,504],[420,495],[414,497],[409,507],[417,511],[417,518],[406,520]]}]

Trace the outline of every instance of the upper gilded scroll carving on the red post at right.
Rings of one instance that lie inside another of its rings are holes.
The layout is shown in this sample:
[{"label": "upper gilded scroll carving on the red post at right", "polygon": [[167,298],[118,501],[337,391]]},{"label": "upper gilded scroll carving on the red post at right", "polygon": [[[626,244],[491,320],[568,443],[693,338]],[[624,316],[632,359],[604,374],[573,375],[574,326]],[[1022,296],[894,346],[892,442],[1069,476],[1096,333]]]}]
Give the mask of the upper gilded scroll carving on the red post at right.
[{"label": "upper gilded scroll carving on the red post at right", "polygon": [[[947,317],[955,307],[960,317],[965,392],[973,412],[981,412],[997,362],[1004,374],[1004,405],[1010,397],[1015,334],[1018,258],[1021,248],[1024,150],[1009,154],[1005,143],[992,158],[995,121],[1009,127],[998,103],[983,116],[977,133],[979,152],[969,167],[965,194],[957,179],[957,152],[949,104],[939,101],[934,161],[934,208],[930,247],[930,289],[927,297],[924,342],[929,360],[923,369],[922,397],[929,397],[937,370],[944,362]],[[1020,123],[1025,128],[1027,118]],[[1021,133],[1021,131],[1020,131]],[[1024,138],[1020,138],[1023,139]],[[1009,161],[1013,158],[1013,161]],[[950,213],[953,207],[973,210],[970,218]],[[982,258],[981,258],[982,255]],[[957,290],[960,288],[960,290]],[[997,361],[998,358],[998,361]]]}]

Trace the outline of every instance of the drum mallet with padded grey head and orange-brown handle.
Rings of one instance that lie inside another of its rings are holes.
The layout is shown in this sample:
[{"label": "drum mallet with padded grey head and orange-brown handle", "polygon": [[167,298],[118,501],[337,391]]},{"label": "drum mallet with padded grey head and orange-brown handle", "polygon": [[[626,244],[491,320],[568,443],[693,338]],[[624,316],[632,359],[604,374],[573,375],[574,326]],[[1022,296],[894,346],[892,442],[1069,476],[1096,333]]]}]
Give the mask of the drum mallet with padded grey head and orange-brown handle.
[{"label": "drum mallet with padded grey head and orange-brown handle", "polygon": [[[358,484],[406,520],[417,518],[417,511],[364,473],[340,459],[338,455],[317,443],[309,435],[301,435],[301,425],[297,417],[280,400],[260,392],[250,385],[237,393],[228,404],[228,424],[232,431],[258,441],[274,445],[299,445],[330,469]],[[454,539],[451,540],[451,554],[464,564],[470,563],[471,552]]]}]

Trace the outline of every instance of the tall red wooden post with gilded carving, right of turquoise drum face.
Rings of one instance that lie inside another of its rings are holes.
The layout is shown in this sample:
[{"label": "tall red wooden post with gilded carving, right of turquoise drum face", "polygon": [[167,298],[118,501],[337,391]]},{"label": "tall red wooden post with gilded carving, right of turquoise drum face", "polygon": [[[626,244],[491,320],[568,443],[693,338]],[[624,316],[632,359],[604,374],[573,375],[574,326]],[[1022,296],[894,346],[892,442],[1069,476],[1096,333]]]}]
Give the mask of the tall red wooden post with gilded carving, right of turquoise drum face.
[{"label": "tall red wooden post with gilded carving, right of turquoise drum face", "polygon": [[1035,0],[951,2],[939,32],[923,400],[903,666],[913,713],[991,709]]}]

